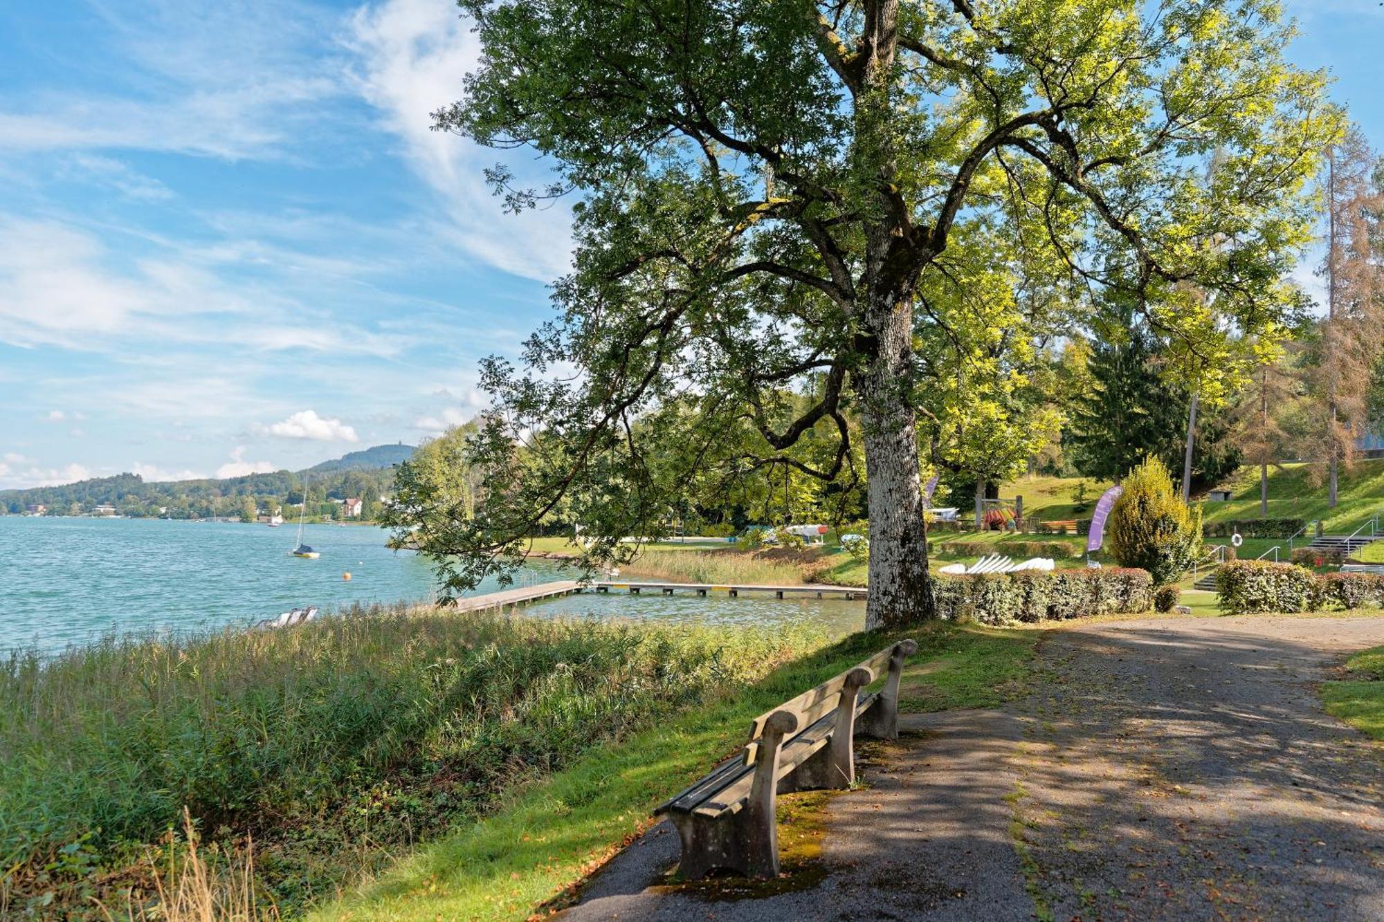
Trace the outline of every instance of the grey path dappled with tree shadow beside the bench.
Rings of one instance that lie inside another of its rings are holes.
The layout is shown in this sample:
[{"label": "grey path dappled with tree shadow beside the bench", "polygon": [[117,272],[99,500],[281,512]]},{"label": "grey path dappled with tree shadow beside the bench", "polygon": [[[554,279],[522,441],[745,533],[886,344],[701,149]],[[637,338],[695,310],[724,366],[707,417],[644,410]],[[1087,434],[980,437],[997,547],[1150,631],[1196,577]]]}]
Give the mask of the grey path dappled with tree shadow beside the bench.
[{"label": "grey path dappled with tree shadow beside the bench", "polygon": [[869,786],[830,802],[815,886],[657,886],[678,851],[663,824],[565,915],[1384,919],[1384,750],[1312,691],[1376,644],[1384,617],[1055,631],[1031,699],[904,718]]}]

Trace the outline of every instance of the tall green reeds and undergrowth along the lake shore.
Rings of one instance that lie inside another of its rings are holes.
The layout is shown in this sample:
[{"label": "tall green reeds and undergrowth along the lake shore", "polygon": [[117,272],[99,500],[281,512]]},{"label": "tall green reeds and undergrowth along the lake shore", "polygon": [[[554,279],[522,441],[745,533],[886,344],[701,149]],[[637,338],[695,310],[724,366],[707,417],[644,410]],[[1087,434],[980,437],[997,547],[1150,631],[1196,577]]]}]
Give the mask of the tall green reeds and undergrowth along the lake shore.
[{"label": "tall green reeds and undergrowth along the lake shore", "polygon": [[[592,745],[823,642],[375,609],[15,656],[0,662],[0,916],[137,908],[148,846],[184,806],[223,853],[252,836],[259,903],[293,914]],[[606,784],[588,781],[573,803]]]}]

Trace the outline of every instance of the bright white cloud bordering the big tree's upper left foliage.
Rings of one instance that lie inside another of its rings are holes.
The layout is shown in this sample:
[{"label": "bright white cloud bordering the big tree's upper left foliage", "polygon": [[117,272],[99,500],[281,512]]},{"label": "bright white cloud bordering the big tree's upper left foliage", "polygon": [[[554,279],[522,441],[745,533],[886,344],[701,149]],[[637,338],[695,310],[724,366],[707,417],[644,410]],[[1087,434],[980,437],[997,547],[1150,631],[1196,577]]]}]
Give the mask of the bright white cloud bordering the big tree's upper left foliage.
[{"label": "bright white cloud bordering the big tree's upper left foliage", "polygon": [[[432,130],[432,112],[454,102],[479,57],[472,24],[441,0],[385,0],[361,7],[350,19],[350,48],[358,55],[360,94],[403,141],[414,172],[441,195],[454,242],[505,271],[549,281],[570,266],[570,212],[563,206],[505,215],[484,183],[483,168],[504,159],[454,134]],[[512,158],[519,176],[534,184],[531,154]]]}]

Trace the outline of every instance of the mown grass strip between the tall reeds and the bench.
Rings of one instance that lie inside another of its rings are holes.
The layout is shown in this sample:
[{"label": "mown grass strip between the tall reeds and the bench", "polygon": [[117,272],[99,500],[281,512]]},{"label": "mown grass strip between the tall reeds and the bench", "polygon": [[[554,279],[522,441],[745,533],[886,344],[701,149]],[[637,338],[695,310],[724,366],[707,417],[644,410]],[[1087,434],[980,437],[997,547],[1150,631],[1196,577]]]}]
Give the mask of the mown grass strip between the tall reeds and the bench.
[{"label": "mown grass strip between the tall reeds and the bench", "polygon": [[650,825],[649,810],[743,745],[756,714],[905,635],[919,641],[919,651],[904,673],[902,707],[925,712],[995,706],[1026,694],[1042,631],[938,623],[854,634],[720,702],[592,749],[314,918],[523,919],[561,905],[574,885]]}]

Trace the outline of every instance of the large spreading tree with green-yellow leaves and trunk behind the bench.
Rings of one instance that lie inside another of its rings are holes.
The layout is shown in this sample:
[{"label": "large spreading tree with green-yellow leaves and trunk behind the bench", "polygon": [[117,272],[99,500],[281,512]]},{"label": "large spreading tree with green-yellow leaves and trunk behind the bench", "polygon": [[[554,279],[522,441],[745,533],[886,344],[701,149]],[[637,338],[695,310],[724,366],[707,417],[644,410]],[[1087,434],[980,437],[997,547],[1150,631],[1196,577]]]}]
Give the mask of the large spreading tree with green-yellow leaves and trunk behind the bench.
[{"label": "large spreading tree with green-yellow leaves and trunk behind the bench", "polygon": [[[948,251],[1008,228],[1016,275],[1128,287],[1167,338],[1233,370],[1226,329],[1275,317],[1337,120],[1322,75],[1284,62],[1269,0],[461,6],[480,64],[437,127],[547,158],[545,188],[490,173],[512,206],[579,201],[559,318],[526,368],[484,368],[489,500],[428,548],[461,561],[453,584],[512,565],[563,501],[601,533],[594,555],[653,533],[681,487],[648,462],[660,447],[710,458],[750,429],[789,464],[818,432],[843,444],[803,468],[837,478],[854,413],[868,623],[930,615],[913,341]],[[1165,296],[1185,282],[1221,295],[1218,316]],[[787,415],[775,395],[805,374],[821,397]],[[543,451],[507,464],[538,429]]]}]

